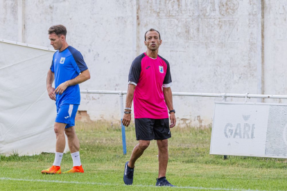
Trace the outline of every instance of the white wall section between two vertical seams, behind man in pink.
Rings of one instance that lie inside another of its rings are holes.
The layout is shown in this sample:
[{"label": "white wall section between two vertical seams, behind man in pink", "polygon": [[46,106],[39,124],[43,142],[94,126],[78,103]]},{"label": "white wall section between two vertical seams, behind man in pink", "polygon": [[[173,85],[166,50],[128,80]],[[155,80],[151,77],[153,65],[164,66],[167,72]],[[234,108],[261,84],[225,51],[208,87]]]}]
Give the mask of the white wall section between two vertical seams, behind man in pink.
[{"label": "white wall section between two vertical seams, behind man in pink", "polygon": [[[152,27],[162,33],[159,54],[171,63],[173,91],[257,93],[259,1],[140,2],[139,34]],[[144,50],[143,35],[138,42]],[[193,125],[211,122],[214,98],[174,101],[180,118]]]}]

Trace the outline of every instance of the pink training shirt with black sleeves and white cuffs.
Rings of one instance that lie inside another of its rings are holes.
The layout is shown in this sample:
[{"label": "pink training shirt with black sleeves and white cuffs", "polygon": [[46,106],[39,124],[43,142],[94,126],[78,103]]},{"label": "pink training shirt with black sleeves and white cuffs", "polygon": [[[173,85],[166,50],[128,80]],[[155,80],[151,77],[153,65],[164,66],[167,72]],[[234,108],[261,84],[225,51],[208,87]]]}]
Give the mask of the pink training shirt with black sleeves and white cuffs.
[{"label": "pink training shirt with black sleeves and white cuffs", "polygon": [[162,87],[171,87],[169,63],[157,55],[156,59],[143,53],[136,57],[130,67],[129,84],[134,90],[134,118],[168,118]]}]

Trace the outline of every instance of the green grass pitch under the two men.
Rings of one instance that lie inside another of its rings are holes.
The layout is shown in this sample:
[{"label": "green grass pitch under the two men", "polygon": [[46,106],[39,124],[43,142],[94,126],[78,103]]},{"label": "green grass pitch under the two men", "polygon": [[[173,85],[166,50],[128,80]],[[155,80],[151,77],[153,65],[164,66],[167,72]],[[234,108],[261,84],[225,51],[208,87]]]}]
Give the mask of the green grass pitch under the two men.
[{"label": "green grass pitch under the two men", "polygon": [[[123,183],[123,168],[137,144],[134,127],[126,128],[126,156],[119,127],[103,122],[77,122],[76,129],[84,174],[44,175],[41,170],[52,165],[54,154],[14,153],[0,156],[0,190],[287,190],[285,159],[229,156],[223,160],[223,156],[211,156],[211,128],[192,127],[173,128],[168,140],[167,179],[180,188],[153,186],[158,168],[155,141],[136,163],[134,185],[127,186]],[[72,165],[71,155],[64,154],[62,171]]]}]

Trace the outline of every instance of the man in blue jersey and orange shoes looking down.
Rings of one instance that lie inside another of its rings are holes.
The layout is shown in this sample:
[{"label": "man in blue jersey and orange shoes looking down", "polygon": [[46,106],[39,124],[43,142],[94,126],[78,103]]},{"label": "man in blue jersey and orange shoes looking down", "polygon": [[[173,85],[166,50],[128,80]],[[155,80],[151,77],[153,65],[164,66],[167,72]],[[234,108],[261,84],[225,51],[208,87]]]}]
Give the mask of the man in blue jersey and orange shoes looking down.
[{"label": "man in blue jersey and orange shoes looking down", "polygon": [[[51,45],[58,50],[53,55],[47,74],[47,91],[55,100],[57,116],[54,131],[56,135],[55,160],[52,167],[42,170],[43,174],[61,174],[60,164],[66,145],[64,134],[73,158],[73,168],[64,173],[84,172],[80,163],[80,143],[75,131],[75,117],[80,104],[78,84],[89,80],[89,70],[82,54],[66,42],[67,29],[62,25],[51,26],[48,30]],[[52,87],[55,80],[55,88]]]}]

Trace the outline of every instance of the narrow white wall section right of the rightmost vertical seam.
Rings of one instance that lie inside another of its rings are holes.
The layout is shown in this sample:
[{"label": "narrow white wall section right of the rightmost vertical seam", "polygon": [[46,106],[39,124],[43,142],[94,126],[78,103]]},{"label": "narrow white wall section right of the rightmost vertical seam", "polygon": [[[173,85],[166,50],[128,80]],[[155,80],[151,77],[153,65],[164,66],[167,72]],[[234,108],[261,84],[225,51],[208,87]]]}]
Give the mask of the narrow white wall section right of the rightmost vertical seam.
[{"label": "narrow white wall section right of the rightmost vertical seam", "polygon": [[286,95],[287,1],[268,0],[264,12],[264,93]]}]

